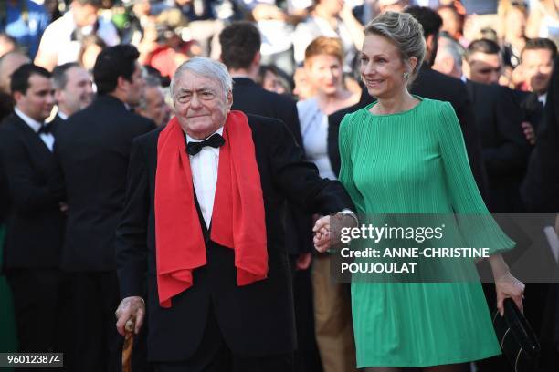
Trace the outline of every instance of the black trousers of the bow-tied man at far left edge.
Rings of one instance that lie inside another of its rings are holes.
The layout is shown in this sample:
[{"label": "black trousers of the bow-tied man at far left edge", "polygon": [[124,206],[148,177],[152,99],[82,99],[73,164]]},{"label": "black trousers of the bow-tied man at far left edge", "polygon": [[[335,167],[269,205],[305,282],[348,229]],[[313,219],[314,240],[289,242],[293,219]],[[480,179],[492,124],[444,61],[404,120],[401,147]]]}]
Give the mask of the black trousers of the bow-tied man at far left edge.
[{"label": "black trousers of the bow-tied man at far left edge", "polygon": [[[14,297],[18,351],[64,353],[66,364],[70,357],[70,323],[65,275],[58,269],[22,268],[6,271],[6,279]],[[34,371],[54,369],[57,368],[29,368]]]}]

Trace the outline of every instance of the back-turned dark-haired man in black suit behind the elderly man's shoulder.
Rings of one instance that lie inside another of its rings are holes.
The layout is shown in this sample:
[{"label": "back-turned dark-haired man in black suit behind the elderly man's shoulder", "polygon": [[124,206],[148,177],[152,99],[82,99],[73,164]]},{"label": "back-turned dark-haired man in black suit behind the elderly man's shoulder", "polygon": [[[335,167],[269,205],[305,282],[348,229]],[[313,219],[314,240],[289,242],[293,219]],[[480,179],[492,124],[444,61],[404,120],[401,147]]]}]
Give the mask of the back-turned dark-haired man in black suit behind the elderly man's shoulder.
[{"label": "back-turned dark-haired man in black suit behind the elderly man's shoulder", "polygon": [[[260,87],[255,80],[260,67],[261,37],[250,22],[235,22],[219,34],[221,60],[233,78],[233,107],[246,114],[280,119],[290,129],[302,149],[297,104],[287,95]],[[314,316],[311,291],[312,220],[297,205],[284,209],[286,246],[290,253],[297,321],[298,352],[296,365],[301,370],[320,364],[314,340]],[[307,366],[307,367],[304,367]]]}]

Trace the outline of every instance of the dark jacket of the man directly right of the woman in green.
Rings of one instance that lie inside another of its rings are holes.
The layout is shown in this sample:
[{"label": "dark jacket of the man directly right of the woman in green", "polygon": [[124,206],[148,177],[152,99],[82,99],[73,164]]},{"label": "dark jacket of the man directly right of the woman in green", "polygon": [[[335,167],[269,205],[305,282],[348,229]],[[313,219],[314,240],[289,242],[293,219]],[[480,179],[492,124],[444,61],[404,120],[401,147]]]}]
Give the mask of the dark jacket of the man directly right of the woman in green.
[{"label": "dark jacket of the man directly right of the woman in green", "polygon": [[522,212],[519,187],[530,153],[530,144],[522,132],[522,110],[509,88],[470,80],[466,87],[489,177],[489,210]]}]

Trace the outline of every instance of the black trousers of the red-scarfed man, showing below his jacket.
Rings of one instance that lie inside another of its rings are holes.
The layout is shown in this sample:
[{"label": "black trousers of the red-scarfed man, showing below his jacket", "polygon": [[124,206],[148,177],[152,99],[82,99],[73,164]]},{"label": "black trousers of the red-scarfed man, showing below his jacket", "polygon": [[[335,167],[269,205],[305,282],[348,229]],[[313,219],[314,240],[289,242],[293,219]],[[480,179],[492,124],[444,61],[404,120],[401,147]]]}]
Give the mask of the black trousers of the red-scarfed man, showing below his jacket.
[{"label": "black trousers of the red-scarfed man, showing below his jacket", "polygon": [[274,356],[232,354],[210,307],[206,330],[195,355],[185,361],[155,362],[153,366],[156,372],[290,372],[293,370],[293,355],[292,353]]}]

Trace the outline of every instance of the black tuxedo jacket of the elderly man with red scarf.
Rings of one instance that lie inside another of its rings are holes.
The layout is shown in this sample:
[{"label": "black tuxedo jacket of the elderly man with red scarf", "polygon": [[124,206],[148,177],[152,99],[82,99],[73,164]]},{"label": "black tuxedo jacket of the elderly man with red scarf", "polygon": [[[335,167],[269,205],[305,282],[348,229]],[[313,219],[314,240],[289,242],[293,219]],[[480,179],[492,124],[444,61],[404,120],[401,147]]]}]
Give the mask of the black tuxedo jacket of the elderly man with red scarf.
[{"label": "black tuxedo jacket of the elderly man with red scarf", "polygon": [[159,306],[155,266],[153,196],[161,129],[134,140],[126,206],[117,230],[117,263],[122,297],[142,295],[147,271],[150,360],[191,357],[210,308],[236,355],[265,356],[295,348],[290,264],[278,211],[286,197],[309,213],[340,212],[353,204],[338,181],[322,180],[316,167],[303,160],[301,148],[279,120],[248,115],[248,124],[266,212],[268,278],[237,286],[233,250],[206,234],[206,266],[194,271],[194,285],[176,295],[168,309]]}]

